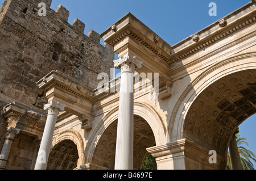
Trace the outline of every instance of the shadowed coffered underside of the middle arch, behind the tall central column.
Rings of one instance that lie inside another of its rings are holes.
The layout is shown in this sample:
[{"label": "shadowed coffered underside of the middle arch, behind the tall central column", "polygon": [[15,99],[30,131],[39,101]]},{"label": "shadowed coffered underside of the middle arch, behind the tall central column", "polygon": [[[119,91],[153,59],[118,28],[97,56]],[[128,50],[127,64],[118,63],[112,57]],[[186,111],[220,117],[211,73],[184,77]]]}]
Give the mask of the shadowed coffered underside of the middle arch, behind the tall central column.
[{"label": "shadowed coffered underside of the middle arch, behind the tall central column", "polygon": [[[92,163],[107,169],[114,169],[117,120],[113,121],[101,135],[94,150]],[[134,169],[141,169],[146,148],[155,145],[155,137],[150,125],[142,117],[134,115]]]}]

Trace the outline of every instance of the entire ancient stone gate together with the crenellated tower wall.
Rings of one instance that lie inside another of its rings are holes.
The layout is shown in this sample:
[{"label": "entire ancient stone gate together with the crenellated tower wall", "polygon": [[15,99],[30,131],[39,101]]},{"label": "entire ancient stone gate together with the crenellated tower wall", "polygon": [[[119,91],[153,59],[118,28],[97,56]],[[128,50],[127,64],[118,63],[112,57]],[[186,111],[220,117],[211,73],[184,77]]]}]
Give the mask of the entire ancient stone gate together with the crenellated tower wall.
[{"label": "entire ancient stone gate together with the crenellated tower wall", "polygon": [[130,12],[85,35],[51,2],[0,9],[0,169],[142,169],[147,153],[159,170],[228,169],[230,139],[256,113],[255,1],[172,46]]}]

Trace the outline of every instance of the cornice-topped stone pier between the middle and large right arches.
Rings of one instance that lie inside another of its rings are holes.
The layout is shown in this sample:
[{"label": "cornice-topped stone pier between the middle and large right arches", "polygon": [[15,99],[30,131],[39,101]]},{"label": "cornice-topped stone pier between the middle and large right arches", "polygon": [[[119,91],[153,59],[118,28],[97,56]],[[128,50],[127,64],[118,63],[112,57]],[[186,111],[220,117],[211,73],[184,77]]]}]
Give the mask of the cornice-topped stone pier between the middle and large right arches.
[{"label": "cornice-topped stone pier between the middle and large right arches", "polygon": [[210,163],[207,150],[186,139],[147,149],[156,159],[158,170],[220,170],[226,169],[225,159],[216,154],[216,163]]}]

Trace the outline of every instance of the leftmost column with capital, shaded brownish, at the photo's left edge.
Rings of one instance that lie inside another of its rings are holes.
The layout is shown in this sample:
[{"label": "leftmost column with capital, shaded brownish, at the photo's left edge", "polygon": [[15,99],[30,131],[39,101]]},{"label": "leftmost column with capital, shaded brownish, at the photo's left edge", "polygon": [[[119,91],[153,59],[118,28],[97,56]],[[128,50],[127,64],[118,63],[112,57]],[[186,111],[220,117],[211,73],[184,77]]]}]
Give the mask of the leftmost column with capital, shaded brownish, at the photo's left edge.
[{"label": "leftmost column with capital, shaded brownish, at the photo's left edge", "polygon": [[3,143],[3,148],[0,154],[0,170],[4,170],[7,164],[7,160],[10,154],[11,145],[13,144],[14,137],[16,134],[19,134],[19,129],[16,128],[8,128],[5,142]]}]

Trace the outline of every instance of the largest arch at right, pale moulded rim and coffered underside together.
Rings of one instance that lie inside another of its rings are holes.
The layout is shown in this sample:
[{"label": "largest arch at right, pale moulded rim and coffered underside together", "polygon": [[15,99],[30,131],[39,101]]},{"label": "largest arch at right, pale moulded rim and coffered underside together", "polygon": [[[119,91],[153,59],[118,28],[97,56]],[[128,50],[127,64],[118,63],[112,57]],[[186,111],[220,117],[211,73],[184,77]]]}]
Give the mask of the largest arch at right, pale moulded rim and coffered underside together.
[{"label": "largest arch at right, pale moulded rim and coffered underside together", "polygon": [[253,52],[219,61],[192,81],[172,113],[170,140],[186,138],[216,150],[222,160],[216,168],[225,169],[231,136],[256,112],[255,57]]}]

